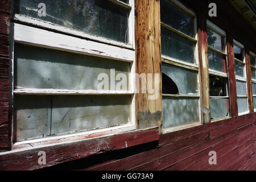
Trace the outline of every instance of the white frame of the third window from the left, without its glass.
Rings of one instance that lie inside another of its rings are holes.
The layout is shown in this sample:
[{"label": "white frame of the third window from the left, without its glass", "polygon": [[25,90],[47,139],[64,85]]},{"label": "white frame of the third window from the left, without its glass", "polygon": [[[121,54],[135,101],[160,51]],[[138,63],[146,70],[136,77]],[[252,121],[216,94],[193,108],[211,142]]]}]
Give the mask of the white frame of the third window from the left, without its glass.
[{"label": "white frame of the third window from the left, without its glass", "polygon": [[[227,72],[220,72],[220,71],[216,71],[214,69],[210,69],[208,68],[208,72],[209,75],[212,76],[217,76],[217,77],[222,77],[222,78],[226,78],[228,79],[228,84],[229,84],[229,77],[228,77],[228,50],[226,47],[226,32],[224,30],[222,30],[220,27],[218,27],[216,24],[212,23],[210,20],[207,19],[207,27],[210,28],[211,30],[213,30],[214,32],[216,32],[218,35],[221,35],[224,38],[224,46],[225,46],[225,50],[224,52],[218,51],[217,49],[214,49],[210,46],[207,45],[208,49],[210,49],[211,51],[214,51],[220,55],[225,56],[225,60],[226,60],[226,70]],[[209,60],[208,60],[209,61]],[[230,84],[229,84],[230,85]],[[210,119],[211,122],[216,122],[216,121],[220,121],[222,119],[226,119],[226,118],[230,118],[230,111],[231,111],[231,104],[230,104],[230,87],[228,85],[228,96],[210,96],[210,98],[228,98],[229,99],[229,115],[224,117],[224,118],[217,118],[217,119]]]}]

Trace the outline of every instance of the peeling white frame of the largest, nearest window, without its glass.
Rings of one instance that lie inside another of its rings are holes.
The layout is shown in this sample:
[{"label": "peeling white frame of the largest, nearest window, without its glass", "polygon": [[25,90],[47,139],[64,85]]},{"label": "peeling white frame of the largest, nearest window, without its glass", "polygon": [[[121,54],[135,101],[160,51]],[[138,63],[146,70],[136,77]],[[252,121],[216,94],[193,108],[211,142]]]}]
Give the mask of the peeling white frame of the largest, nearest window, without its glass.
[{"label": "peeling white frame of the largest, nearest window, without its glass", "polygon": [[[77,142],[79,140],[102,137],[131,131],[136,129],[135,125],[135,34],[134,34],[134,0],[126,5],[118,0],[109,0],[119,6],[130,9],[129,16],[129,44],[116,42],[106,38],[85,34],[69,28],[53,25],[23,15],[14,15],[15,23],[11,23],[13,37],[10,41],[11,52],[11,104],[15,95],[19,94],[74,94],[74,95],[127,95],[131,96],[131,121],[125,125],[106,127],[104,129],[84,131],[74,134],[59,135],[40,139],[24,140],[13,143],[12,150],[27,150],[30,148],[44,147],[48,145]],[[28,25],[24,25],[26,23]],[[38,27],[34,27],[34,26]],[[44,30],[42,28],[47,28]],[[57,32],[49,31],[55,30]],[[65,34],[62,34],[65,33]],[[67,34],[66,34],[67,33]],[[86,39],[85,39],[86,38]],[[89,39],[89,40],[88,40]],[[56,49],[65,52],[72,52],[96,57],[104,57],[115,61],[125,61],[131,64],[129,73],[129,90],[127,91],[98,91],[98,90],[61,90],[61,89],[14,89],[14,44],[25,44],[34,47]],[[12,119],[12,122],[13,119]],[[12,133],[13,133],[12,128]]]}]

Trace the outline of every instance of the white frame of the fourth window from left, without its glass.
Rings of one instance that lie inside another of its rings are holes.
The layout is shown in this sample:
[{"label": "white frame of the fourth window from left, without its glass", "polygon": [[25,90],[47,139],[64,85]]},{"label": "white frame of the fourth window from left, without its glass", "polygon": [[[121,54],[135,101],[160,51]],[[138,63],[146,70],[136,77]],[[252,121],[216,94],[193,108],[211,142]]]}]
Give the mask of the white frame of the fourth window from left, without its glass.
[{"label": "white frame of the fourth window from left, without its glass", "polygon": [[[241,63],[243,64],[243,77],[241,76],[237,76],[236,73],[236,81],[240,81],[240,82],[245,82],[245,85],[246,85],[246,96],[239,96],[237,95],[237,98],[246,98],[246,103],[247,103],[247,110],[242,112],[242,113],[239,113],[238,112],[238,115],[245,115],[245,114],[248,114],[249,113],[249,102],[248,102],[248,93],[247,93],[247,75],[246,75],[246,59],[245,59],[245,46],[243,46],[243,44],[241,44],[240,42],[238,42],[237,40],[233,39],[233,42],[234,42],[234,45],[236,45],[237,47],[241,48],[242,50],[242,56],[243,56],[243,60],[239,60],[239,59],[236,59],[236,57],[234,57],[234,61],[235,61],[235,67],[236,67],[236,61],[238,63]],[[235,70],[236,72],[236,70]],[[237,102],[238,103],[238,102]]]}]

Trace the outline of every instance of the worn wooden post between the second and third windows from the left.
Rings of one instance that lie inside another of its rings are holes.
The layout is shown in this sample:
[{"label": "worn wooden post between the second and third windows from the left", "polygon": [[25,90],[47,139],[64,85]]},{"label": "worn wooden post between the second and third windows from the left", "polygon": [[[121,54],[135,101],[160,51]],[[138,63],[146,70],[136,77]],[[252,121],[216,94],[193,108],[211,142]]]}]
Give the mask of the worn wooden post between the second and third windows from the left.
[{"label": "worn wooden post between the second and third windows from the left", "polygon": [[201,103],[203,123],[210,122],[210,92],[209,92],[209,65],[208,65],[208,42],[207,42],[207,19],[204,15],[197,15],[198,38],[199,38],[199,64],[201,76]]}]

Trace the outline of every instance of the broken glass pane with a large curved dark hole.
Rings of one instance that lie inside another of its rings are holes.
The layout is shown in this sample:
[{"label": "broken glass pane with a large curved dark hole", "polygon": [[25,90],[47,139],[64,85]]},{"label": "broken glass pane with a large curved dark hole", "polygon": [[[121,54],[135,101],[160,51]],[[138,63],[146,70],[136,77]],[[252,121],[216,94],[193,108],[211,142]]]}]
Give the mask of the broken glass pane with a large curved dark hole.
[{"label": "broken glass pane with a large curved dark hole", "polygon": [[[197,72],[189,69],[175,67],[169,64],[162,64],[162,72],[167,76],[163,76],[163,93],[167,94],[199,94],[197,87]],[[170,81],[168,81],[168,79]],[[178,93],[170,93],[177,87]],[[169,89],[170,88],[170,89]]]}]

